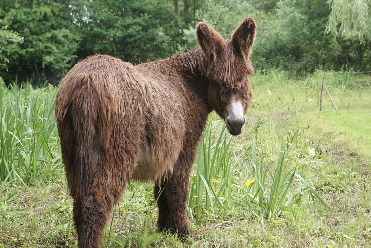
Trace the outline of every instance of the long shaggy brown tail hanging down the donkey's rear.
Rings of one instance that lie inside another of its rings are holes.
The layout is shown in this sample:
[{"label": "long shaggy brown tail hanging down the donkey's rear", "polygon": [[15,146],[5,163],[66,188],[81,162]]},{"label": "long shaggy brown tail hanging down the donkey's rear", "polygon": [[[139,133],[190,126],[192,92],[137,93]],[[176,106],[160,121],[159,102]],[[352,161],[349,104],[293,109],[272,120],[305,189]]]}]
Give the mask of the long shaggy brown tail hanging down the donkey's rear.
[{"label": "long shaggy brown tail hanging down the donkey's rear", "polygon": [[64,80],[66,85],[61,85],[56,99],[56,119],[71,195],[82,200],[88,194],[96,162],[99,97],[89,74]]}]

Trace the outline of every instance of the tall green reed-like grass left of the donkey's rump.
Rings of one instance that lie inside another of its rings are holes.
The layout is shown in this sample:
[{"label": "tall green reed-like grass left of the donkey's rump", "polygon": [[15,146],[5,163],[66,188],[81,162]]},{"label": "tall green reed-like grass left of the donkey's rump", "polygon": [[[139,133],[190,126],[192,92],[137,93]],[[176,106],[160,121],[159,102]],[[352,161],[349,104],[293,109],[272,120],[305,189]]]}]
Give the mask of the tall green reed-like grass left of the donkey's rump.
[{"label": "tall green reed-like grass left of the donkey's rump", "polygon": [[55,94],[53,87],[33,90],[28,84],[20,89],[0,82],[0,183],[38,184],[41,169],[50,171],[43,174],[46,180],[53,178],[61,162],[61,156],[52,153],[58,149]]}]

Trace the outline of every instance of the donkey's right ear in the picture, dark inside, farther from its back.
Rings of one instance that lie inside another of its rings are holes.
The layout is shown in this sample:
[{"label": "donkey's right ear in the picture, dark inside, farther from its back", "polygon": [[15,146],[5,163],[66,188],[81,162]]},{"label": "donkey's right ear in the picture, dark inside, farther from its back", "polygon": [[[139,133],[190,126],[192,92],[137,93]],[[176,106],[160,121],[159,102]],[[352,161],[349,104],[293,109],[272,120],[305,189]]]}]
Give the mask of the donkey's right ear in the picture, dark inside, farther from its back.
[{"label": "donkey's right ear in the picture, dark inside, farther from its back", "polygon": [[256,36],[256,23],[254,18],[246,18],[240,26],[233,31],[231,43],[234,51],[240,53],[247,60]]}]

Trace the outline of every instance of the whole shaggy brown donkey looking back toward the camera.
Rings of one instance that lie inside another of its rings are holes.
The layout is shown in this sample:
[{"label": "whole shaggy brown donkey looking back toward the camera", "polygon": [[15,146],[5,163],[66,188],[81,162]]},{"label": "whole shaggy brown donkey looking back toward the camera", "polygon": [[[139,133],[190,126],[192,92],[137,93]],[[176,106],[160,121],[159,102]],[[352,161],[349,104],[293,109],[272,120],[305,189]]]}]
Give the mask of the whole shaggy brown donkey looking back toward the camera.
[{"label": "whole shaggy brown donkey looking back toward the camera", "polygon": [[189,177],[208,113],[239,135],[252,97],[253,18],[230,40],[196,26],[201,49],[133,66],[108,55],[77,63],[56,97],[56,120],[79,247],[101,246],[131,179],[154,181],[158,228],[189,235]]}]

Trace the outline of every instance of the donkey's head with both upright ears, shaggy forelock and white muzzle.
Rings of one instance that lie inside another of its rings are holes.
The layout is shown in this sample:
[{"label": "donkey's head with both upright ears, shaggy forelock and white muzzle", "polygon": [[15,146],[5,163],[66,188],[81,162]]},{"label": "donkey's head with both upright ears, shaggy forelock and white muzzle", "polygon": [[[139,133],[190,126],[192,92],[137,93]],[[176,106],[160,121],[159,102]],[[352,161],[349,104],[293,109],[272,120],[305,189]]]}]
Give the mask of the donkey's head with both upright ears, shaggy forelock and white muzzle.
[{"label": "donkey's head with both upright ears, shaggy forelock and white muzzle", "polygon": [[245,113],[252,90],[248,75],[254,73],[250,53],[255,39],[253,18],[245,19],[230,40],[206,23],[196,27],[197,39],[204,52],[204,72],[209,80],[208,104],[226,123],[229,133],[239,135],[245,126]]}]

